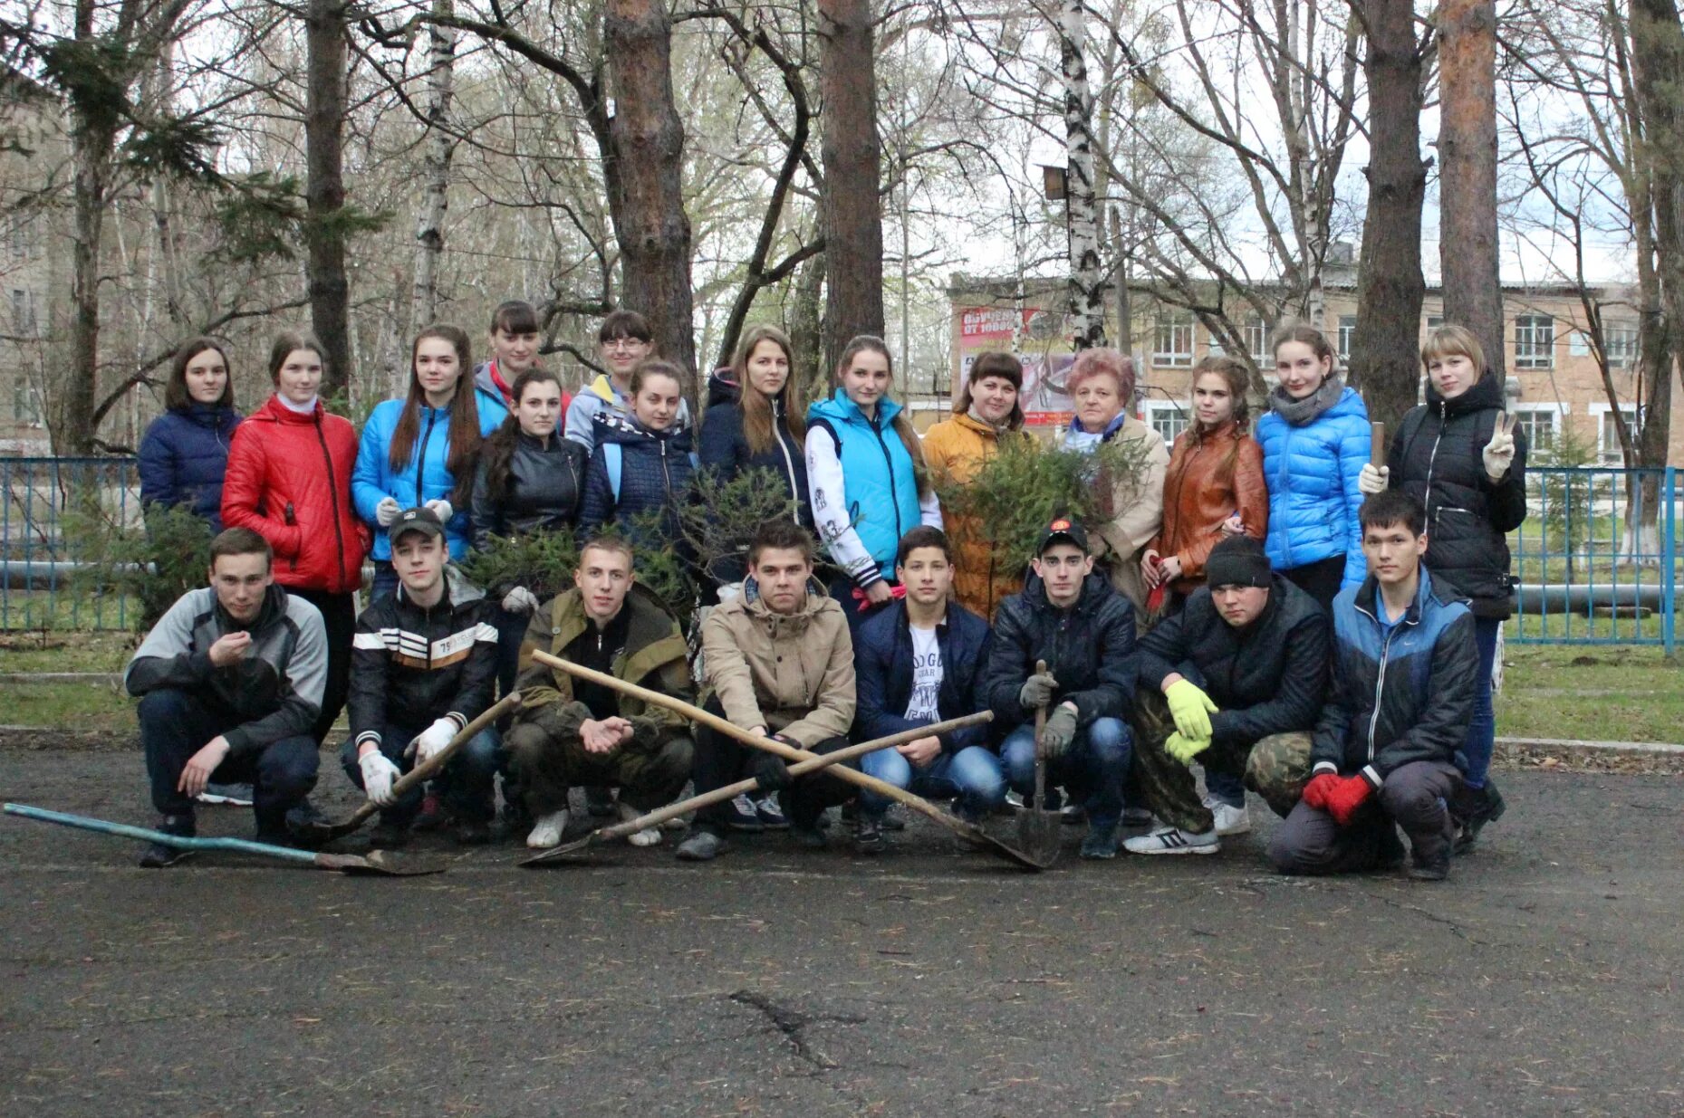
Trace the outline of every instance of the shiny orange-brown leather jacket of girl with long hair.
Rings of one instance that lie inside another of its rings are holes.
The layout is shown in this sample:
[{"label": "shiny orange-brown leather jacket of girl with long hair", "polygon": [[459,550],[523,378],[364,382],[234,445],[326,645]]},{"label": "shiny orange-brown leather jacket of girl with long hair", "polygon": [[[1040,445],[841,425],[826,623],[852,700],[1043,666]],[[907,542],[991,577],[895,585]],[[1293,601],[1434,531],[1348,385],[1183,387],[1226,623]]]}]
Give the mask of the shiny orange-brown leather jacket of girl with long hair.
[{"label": "shiny orange-brown leather jacket of girl with long hair", "polygon": [[1147,544],[1169,559],[1180,557],[1180,578],[1170,589],[1191,594],[1204,586],[1204,561],[1223,539],[1221,524],[1234,512],[1246,535],[1268,535],[1268,487],[1263,448],[1234,423],[1201,436],[1199,424],[1175,439],[1164,471],[1164,527]]}]

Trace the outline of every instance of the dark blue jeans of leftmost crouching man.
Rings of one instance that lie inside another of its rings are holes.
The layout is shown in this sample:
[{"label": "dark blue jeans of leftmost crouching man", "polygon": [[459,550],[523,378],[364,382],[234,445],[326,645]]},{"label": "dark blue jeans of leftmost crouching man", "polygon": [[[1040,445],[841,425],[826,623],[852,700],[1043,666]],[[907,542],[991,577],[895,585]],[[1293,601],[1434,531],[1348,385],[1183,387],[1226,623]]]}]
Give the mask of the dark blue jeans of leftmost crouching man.
[{"label": "dark blue jeans of leftmost crouching man", "polygon": [[[165,687],[140,700],[140,741],[147,751],[152,807],[163,815],[192,817],[194,801],[175,785],[199,749],[248,719],[221,702]],[[251,810],[259,833],[286,830],[286,812],[315,788],[320,754],[315,739],[298,734],[261,749],[229,754],[210,775],[219,785],[251,781]]]}]

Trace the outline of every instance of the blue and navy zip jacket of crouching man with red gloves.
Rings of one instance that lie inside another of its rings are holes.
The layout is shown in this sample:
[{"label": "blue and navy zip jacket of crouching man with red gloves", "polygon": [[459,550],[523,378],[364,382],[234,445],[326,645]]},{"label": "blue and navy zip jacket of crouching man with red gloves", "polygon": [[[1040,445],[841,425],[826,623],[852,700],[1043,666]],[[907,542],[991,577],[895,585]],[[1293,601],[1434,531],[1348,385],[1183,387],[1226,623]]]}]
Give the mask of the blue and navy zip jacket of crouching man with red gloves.
[{"label": "blue and navy zip jacket of crouching man with red gloves", "polygon": [[1334,598],[1334,679],[1310,746],[1312,773],[1362,773],[1376,788],[1411,761],[1455,761],[1468,734],[1479,653],[1474,615],[1421,569],[1415,601],[1381,625],[1372,576]]}]

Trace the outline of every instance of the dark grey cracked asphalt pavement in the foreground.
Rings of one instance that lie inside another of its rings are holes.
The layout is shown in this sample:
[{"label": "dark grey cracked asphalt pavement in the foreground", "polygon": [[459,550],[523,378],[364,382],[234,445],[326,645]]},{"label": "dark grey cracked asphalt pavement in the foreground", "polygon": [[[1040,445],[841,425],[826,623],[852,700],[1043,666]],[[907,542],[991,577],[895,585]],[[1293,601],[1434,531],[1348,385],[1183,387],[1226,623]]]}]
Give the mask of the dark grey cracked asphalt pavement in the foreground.
[{"label": "dark grey cracked asphalt pavement in the foreground", "polygon": [[[1256,800],[1037,876],[923,822],[386,881],[5,818],[0,1115],[1684,1115],[1684,778],[1500,780],[1447,884],[1276,877]],[[150,823],[135,753],[0,795]]]}]

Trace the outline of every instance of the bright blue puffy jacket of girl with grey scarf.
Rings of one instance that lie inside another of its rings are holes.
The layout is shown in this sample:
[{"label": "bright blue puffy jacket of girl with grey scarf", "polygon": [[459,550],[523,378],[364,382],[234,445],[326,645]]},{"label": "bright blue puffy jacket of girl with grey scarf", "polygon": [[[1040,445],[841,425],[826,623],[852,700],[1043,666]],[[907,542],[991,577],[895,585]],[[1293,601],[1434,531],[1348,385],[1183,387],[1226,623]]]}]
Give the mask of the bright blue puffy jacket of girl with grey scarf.
[{"label": "bright blue puffy jacket of girl with grey scarf", "polygon": [[1263,549],[1276,571],[1332,556],[1346,557],[1342,588],[1367,574],[1357,508],[1357,475],[1369,460],[1367,406],[1356,389],[1302,428],[1273,411],[1258,419],[1263,480],[1268,483],[1268,540]]}]

